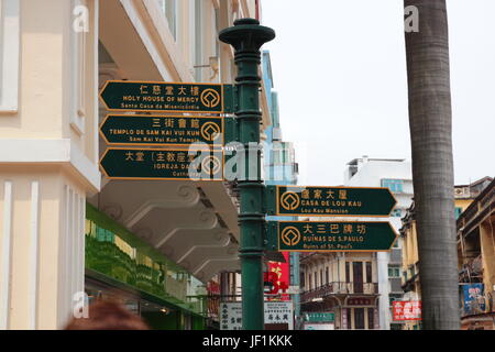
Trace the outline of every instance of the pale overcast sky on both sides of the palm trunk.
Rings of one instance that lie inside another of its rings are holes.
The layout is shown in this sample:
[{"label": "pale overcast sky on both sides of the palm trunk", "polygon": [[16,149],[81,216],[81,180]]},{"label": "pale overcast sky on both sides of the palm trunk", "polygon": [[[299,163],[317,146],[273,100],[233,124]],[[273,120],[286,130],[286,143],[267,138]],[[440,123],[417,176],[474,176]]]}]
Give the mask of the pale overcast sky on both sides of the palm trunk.
[{"label": "pale overcast sky on both sides of the palm trunk", "polygon": [[[447,0],[455,184],[495,175],[495,1]],[[340,185],[362,155],[407,158],[402,0],[263,0],[299,184]]]}]

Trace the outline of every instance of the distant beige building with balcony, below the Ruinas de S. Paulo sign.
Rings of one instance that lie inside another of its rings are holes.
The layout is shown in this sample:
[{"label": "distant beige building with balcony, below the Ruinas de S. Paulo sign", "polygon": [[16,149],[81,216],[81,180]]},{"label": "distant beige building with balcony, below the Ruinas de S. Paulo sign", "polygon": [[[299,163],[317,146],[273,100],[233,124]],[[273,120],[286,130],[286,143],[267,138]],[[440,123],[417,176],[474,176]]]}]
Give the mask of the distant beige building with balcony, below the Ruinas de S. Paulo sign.
[{"label": "distant beige building with balcony, below the Ruinas de S. Paulo sign", "polygon": [[[328,218],[310,219],[323,221]],[[374,253],[301,253],[301,316],[306,327],[315,316],[326,329],[376,330],[378,273]]]}]

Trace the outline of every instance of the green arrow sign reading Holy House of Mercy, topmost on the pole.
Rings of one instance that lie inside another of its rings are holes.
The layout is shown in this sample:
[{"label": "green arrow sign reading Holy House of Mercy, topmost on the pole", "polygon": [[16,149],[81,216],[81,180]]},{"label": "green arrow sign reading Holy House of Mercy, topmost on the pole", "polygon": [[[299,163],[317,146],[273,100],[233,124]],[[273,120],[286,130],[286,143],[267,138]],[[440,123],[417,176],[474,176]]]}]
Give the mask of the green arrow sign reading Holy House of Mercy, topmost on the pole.
[{"label": "green arrow sign reading Holy House of Mercy, topmost on the pole", "polygon": [[232,112],[232,86],[108,80],[100,98],[111,111]]}]

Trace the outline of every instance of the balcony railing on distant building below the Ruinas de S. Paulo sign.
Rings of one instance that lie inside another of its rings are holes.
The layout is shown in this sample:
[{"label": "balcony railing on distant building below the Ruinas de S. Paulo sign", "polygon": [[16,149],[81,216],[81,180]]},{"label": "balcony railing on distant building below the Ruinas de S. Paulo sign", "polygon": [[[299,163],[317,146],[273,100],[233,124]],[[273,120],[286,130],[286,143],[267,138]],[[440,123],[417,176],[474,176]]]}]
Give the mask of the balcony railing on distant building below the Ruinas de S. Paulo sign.
[{"label": "balcony railing on distant building below the Ruinas de S. Paulo sign", "polygon": [[377,283],[329,283],[304,292],[301,301],[311,301],[315,298],[323,298],[330,295],[375,295],[377,293]]}]

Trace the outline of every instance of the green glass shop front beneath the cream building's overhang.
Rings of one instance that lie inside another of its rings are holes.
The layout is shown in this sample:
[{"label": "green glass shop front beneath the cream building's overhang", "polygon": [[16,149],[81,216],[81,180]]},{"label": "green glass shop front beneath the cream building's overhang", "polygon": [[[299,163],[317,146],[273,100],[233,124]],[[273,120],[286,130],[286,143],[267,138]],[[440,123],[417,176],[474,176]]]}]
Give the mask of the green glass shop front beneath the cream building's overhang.
[{"label": "green glass shop front beneath the cream building's overhang", "polygon": [[85,241],[89,302],[120,301],[152,329],[205,329],[205,285],[91,205]]}]

